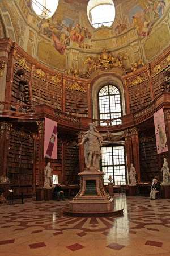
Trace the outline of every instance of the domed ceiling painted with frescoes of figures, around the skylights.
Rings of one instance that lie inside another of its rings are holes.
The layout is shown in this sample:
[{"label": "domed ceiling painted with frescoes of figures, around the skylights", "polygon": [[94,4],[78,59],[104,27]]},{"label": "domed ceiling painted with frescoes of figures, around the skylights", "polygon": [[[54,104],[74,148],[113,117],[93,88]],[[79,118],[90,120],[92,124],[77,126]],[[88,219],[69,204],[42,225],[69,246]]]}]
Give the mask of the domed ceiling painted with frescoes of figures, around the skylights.
[{"label": "domed ceiling painted with frescoes of figures, around the skylights", "polygon": [[112,26],[97,29],[88,20],[88,2],[59,0],[52,18],[45,20],[33,11],[31,0],[0,0],[1,38],[7,35],[40,63],[61,72],[73,67],[85,73],[84,61],[104,48],[113,56],[128,56],[128,69],[135,61],[147,64],[169,46],[169,0],[114,0]]}]

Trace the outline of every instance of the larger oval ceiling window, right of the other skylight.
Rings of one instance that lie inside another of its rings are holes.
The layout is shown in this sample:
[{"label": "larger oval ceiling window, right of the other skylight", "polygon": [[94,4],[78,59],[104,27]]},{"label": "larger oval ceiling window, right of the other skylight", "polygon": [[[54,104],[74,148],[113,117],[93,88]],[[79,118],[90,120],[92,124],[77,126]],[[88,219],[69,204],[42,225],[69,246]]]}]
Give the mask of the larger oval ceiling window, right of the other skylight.
[{"label": "larger oval ceiling window, right of the other skylight", "polygon": [[115,18],[115,7],[112,0],[90,0],[87,16],[95,28],[101,25],[111,27]]}]

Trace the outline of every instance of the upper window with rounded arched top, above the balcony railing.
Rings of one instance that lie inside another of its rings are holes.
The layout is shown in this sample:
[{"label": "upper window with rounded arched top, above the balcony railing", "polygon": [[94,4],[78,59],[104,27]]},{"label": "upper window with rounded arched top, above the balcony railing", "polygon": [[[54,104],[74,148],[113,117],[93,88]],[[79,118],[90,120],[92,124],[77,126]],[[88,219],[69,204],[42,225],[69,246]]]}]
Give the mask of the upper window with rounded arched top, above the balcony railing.
[{"label": "upper window with rounded arched top, above the balcony railing", "polygon": [[[99,119],[113,119],[121,117],[120,91],[114,85],[105,85],[99,91]],[[119,125],[121,119],[112,121],[111,125]],[[106,126],[106,123],[101,123]]]}]

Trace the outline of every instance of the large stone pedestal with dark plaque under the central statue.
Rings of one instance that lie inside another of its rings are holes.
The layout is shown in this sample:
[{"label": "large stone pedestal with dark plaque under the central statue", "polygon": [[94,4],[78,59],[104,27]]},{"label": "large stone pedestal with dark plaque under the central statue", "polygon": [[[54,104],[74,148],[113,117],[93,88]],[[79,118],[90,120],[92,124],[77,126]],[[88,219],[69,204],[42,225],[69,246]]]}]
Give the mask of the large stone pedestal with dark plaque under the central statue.
[{"label": "large stone pedestal with dark plaque under the central statue", "polygon": [[104,172],[90,168],[78,175],[80,176],[80,191],[69,203],[69,208],[63,210],[65,214],[71,216],[103,214],[105,216],[123,213],[123,209],[114,209],[114,200],[104,189]]}]

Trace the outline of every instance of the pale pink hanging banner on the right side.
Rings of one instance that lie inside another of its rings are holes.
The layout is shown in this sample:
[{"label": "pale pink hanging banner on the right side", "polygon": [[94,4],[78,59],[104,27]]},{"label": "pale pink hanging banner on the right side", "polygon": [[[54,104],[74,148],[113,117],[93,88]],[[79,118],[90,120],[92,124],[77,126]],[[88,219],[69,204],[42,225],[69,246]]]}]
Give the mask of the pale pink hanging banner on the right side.
[{"label": "pale pink hanging banner on the right side", "polygon": [[154,114],[156,147],[158,154],[168,151],[163,108]]}]

